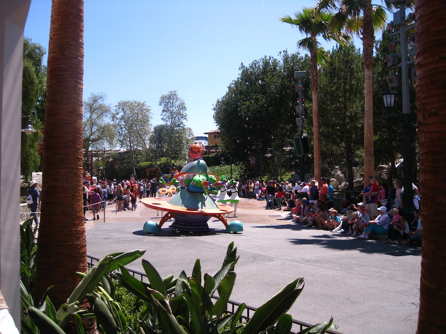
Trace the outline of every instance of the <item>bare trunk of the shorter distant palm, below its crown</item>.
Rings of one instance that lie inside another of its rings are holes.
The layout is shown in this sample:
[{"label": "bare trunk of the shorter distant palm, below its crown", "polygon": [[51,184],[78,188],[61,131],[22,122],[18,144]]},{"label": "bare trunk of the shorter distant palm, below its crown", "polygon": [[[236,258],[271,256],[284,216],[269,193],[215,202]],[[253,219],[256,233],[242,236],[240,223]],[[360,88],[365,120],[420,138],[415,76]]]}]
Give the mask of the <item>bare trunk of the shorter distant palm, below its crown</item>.
[{"label": "bare trunk of the shorter distant palm, below its crown", "polygon": [[313,131],[314,131],[314,178],[321,182],[321,139],[319,127],[319,106],[318,106],[318,58],[316,50],[310,51],[310,72],[311,72],[311,90],[313,93]]}]

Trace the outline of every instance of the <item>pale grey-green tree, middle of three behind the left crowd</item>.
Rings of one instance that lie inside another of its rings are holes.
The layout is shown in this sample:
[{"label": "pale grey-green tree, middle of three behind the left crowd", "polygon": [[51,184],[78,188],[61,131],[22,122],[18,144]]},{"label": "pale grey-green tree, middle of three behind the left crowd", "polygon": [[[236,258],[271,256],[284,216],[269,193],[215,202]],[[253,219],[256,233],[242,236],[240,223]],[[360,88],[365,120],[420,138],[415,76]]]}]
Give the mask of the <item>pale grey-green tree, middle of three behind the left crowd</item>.
[{"label": "pale grey-green tree, middle of three behind the left crowd", "polygon": [[136,176],[137,149],[147,149],[151,132],[152,112],[144,101],[119,101],[114,107],[112,122],[119,144],[132,154],[132,171]]}]

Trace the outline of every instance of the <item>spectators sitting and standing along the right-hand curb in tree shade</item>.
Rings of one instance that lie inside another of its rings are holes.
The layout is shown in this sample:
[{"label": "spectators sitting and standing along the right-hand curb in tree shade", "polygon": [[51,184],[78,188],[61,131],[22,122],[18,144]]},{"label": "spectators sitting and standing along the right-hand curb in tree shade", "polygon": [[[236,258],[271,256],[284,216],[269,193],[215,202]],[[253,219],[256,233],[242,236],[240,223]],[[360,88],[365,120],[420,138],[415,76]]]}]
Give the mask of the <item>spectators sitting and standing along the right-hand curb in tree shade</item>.
[{"label": "spectators sitting and standing along the right-hand curb in tree shade", "polygon": [[[391,191],[388,191],[386,184],[379,185],[373,177],[367,178],[366,182],[364,191],[359,194],[362,201],[352,203],[343,217],[339,217],[338,211],[330,205],[333,201],[330,195],[330,180],[322,178],[320,187],[313,180],[308,189],[304,190],[306,185],[303,183],[302,190],[293,191],[292,188],[289,192],[292,198],[288,201],[293,217],[291,221],[357,239],[367,240],[372,234],[386,235],[388,243],[419,246],[422,228],[418,188],[413,185],[416,194],[415,219],[409,225],[402,210],[401,181],[393,179],[394,188]],[[326,197],[327,191],[329,195]],[[391,192],[395,197],[391,197]]]}]

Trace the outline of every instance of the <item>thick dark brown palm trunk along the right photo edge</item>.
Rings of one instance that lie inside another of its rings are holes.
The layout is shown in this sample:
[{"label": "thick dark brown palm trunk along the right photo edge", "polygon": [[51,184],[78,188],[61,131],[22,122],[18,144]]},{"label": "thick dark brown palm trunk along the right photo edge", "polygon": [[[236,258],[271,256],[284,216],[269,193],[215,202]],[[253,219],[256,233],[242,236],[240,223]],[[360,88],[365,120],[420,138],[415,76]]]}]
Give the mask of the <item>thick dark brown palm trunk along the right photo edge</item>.
[{"label": "thick dark brown palm trunk along the right photo edge", "polygon": [[[446,7],[444,0],[415,1],[417,106],[423,221],[418,333],[446,328],[446,225],[439,194],[446,191],[445,88]],[[435,33],[434,33],[435,32]],[[435,46],[435,47],[433,47]]]}]

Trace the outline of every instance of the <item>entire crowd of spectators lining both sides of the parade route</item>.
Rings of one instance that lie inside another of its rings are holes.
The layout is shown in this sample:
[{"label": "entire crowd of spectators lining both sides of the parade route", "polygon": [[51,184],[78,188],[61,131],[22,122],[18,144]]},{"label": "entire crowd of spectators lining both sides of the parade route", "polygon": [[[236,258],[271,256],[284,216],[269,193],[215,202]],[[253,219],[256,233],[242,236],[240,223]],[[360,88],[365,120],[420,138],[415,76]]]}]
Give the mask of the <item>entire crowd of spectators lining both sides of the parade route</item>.
[{"label": "entire crowd of spectators lining both sides of the parade route", "polygon": [[[254,179],[242,183],[238,189],[239,196],[249,199],[265,200],[265,209],[290,211],[291,222],[307,227],[329,230],[344,236],[357,239],[369,239],[370,235],[387,235],[388,243],[421,245],[421,213],[419,209],[419,192],[415,185],[414,220],[409,224],[403,214],[402,183],[392,180],[392,189],[386,183],[378,184],[374,177],[368,177],[364,191],[358,198],[362,201],[351,203],[342,216],[333,207],[334,189],[329,178],[322,178],[320,184],[316,180],[306,182],[289,182]],[[99,212],[108,203],[116,201],[117,211],[135,210],[137,198],[155,197],[159,191],[156,179],[116,182],[92,178],[92,182],[83,182],[84,219],[87,210],[91,209],[93,220],[99,219]],[[36,212],[40,206],[40,192],[36,182],[30,182],[27,191],[27,203],[32,216],[38,224]]]}]

